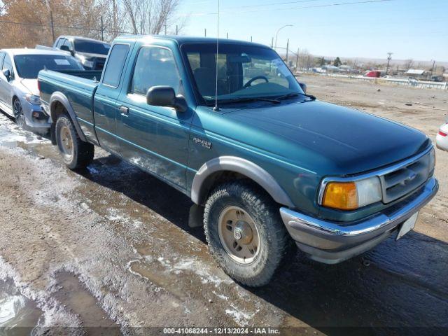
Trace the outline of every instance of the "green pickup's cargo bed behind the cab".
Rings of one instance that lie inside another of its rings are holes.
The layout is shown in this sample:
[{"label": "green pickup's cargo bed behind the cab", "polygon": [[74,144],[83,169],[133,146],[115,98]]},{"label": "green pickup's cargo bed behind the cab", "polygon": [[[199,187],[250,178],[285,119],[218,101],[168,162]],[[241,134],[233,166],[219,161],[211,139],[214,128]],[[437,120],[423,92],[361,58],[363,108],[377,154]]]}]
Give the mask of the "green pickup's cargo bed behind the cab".
[{"label": "green pickup's cargo bed behind the cab", "polygon": [[42,70],[38,74],[41,100],[49,104],[52,94],[64,94],[86,137],[94,138],[93,96],[101,75],[102,71]]}]

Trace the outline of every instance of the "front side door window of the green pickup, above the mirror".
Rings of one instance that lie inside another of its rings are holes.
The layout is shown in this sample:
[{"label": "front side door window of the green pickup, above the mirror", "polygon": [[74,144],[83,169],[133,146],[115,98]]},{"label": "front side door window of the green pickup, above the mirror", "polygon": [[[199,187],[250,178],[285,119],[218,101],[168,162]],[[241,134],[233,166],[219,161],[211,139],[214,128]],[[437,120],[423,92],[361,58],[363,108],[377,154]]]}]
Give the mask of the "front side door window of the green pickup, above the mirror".
[{"label": "front side door window of the green pickup, above the mirror", "polygon": [[132,93],[146,94],[148,89],[166,85],[179,92],[181,77],[171,50],[144,47],[139,51],[132,78]]}]

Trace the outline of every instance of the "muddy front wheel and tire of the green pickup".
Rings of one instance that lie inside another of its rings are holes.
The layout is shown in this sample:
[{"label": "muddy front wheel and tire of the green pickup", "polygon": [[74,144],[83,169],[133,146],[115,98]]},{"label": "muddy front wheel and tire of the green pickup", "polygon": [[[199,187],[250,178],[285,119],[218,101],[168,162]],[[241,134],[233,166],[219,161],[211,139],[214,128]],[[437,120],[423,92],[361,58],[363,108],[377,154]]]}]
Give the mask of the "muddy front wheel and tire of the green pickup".
[{"label": "muddy front wheel and tire of the green pickup", "polygon": [[290,241],[276,203],[255,183],[218,186],[207,200],[204,230],[218,265],[246,286],[267,284]]}]

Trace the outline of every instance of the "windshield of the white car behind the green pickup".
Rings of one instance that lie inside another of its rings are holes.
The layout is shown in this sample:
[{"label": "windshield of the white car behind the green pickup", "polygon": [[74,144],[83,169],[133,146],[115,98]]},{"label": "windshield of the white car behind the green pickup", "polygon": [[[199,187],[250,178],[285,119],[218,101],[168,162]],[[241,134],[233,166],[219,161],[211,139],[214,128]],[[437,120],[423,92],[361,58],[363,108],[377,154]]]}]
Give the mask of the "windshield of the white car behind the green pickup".
[{"label": "windshield of the white car behind the green pickup", "polygon": [[76,59],[64,55],[17,55],[14,61],[20,78],[35,79],[44,68],[55,71],[84,70]]}]

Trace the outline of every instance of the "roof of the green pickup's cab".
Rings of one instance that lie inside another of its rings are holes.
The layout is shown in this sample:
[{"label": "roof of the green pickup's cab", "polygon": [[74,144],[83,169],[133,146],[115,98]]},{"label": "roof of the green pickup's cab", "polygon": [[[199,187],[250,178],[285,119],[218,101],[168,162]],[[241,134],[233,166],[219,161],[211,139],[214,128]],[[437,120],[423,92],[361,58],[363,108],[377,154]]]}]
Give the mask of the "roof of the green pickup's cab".
[{"label": "roof of the green pickup's cab", "polygon": [[[216,44],[216,38],[212,37],[197,37],[197,36],[167,36],[167,35],[122,35],[116,38],[116,41],[157,41],[157,40],[170,40],[175,41],[179,45],[184,43],[211,43]],[[267,45],[260,43],[253,43],[248,41],[230,40],[228,38],[219,38],[221,44],[244,44],[254,45],[258,47],[266,48]]]}]

